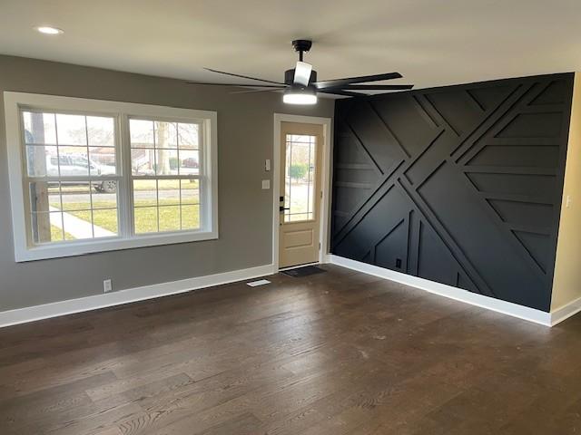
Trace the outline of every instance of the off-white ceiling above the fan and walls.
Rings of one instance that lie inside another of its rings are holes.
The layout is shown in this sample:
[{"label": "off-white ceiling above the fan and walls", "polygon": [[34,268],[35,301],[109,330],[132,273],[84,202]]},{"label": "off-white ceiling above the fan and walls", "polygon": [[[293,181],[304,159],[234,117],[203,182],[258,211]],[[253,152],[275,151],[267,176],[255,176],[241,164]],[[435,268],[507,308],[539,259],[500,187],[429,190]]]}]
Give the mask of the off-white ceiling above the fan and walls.
[{"label": "off-white ceiling above the fan and walls", "polygon": [[241,82],[206,66],[281,81],[297,38],[313,40],[320,80],[398,71],[392,82],[423,88],[581,70],[581,0],[0,3],[0,53],[180,79]]}]

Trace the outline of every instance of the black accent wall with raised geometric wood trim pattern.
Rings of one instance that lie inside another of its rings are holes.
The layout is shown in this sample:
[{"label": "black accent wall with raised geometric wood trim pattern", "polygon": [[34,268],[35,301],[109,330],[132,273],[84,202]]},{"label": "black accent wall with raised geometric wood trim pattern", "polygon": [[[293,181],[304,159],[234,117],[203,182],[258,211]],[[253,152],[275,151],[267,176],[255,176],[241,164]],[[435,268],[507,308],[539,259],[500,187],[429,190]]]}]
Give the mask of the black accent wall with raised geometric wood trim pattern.
[{"label": "black accent wall with raised geometric wood trim pattern", "polygon": [[549,311],[573,77],[338,101],[331,252]]}]

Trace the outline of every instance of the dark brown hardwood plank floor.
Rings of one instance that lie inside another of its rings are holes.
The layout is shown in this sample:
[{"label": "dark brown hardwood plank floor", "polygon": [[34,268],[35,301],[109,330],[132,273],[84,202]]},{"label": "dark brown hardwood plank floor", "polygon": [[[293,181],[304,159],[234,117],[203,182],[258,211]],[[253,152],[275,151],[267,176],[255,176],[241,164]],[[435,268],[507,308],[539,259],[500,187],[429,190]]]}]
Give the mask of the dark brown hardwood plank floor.
[{"label": "dark brown hardwood plank floor", "polygon": [[581,431],[581,315],[322,267],[1,329],[0,433]]}]

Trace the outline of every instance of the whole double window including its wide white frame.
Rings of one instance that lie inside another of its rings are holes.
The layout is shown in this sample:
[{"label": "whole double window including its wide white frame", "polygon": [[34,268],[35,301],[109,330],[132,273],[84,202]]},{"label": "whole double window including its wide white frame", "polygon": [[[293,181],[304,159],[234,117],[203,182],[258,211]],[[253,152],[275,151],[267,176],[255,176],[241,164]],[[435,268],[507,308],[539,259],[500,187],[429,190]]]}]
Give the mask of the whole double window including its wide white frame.
[{"label": "whole double window including its wide white frame", "polygon": [[216,114],[5,92],[16,261],[218,237]]}]

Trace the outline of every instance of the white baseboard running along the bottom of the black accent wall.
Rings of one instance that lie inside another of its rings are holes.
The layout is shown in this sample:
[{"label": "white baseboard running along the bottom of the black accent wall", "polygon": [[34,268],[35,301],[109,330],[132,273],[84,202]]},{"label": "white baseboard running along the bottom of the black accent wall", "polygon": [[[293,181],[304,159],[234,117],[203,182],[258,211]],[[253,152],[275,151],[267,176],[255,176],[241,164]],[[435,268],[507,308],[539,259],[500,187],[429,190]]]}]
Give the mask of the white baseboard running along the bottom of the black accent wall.
[{"label": "white baseboard running along the bottom of the black accent wall", "polygon": [[[401,284],[411,285],[412,287],[425,290],[429,293],[445,296],[456,301],[464,302],[466,304],[487,308],[488,310],[496,311],[497,313],[512,315],[513,317],[518,317],[519,319],[534,322],[536,324],[553,326],[554,324],[558,323],[553,320],[553,314],[547,313],[545,311],[513,304],[511,302],[501,301],[493,297],[478,295],[458,287],[436,283],[434,281],[429,281],[428,279],[419,278],[418,276],[402,274],[400,272],[385,269],[379,266],[368,265],[367,263],[350,260],[349,258],[344,258],[342,256],[330,255],[329,263],[357,270],[365,274],[379,276],[381,278],[396,281]],[[577,311],[581,310],[581,299],[578,300],[578,305],[579,306]],[[567,317],[573,314],[575,313],[567,314]],[[565,320],[565,318],[566,317],[564,317],[562,320]]]}]

